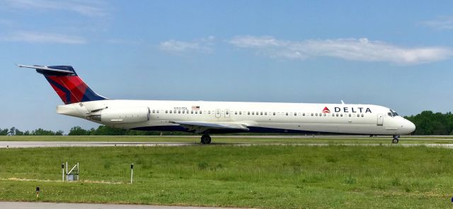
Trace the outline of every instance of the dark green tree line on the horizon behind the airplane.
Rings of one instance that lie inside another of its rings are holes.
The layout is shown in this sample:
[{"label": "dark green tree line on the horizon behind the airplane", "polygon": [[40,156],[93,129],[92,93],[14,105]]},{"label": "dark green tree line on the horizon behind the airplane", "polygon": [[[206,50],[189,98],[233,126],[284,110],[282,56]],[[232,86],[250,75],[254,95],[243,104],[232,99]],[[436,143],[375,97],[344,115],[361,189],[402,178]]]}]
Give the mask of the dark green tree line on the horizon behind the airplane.
[{"label": "dark green tree line on the horizon behind the airplane", "polygon": [[[412,135],[453,135],[453,114],[452,112],[440,113],[432,111],[423,111],[420,114],[404,117],[412,121],[416,129]],[[190,135],[179,131],[135,131],[117,129],[109,126],[98,126],[94,129],[82,129],[80,126],[71,128],[68,136],[176,136]],[[252,135],[253,133],[241,133],[242,135]],[[260,134],[260,133],[258,133]],[[34,131],[20,131],[16,127],[11,129],[0,129],[0,136],[63,136],[64,131],[50,131],[36,129]],[[274,135],[274,134],[272,134]]]}]

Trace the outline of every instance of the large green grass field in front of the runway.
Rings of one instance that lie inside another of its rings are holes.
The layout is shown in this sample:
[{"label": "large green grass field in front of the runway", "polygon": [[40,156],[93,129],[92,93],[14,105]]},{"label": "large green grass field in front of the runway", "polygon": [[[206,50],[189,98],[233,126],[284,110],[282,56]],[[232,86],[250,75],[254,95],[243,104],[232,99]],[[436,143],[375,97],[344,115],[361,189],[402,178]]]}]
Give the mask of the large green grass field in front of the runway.
[{"label": "large green grass field in front of the runway", "polygon": [[[82,182],[61,181],[80,162]],[[130,163],[134,162],[134,184]],[[448,208],[445,148],[231,145],[0,149],[0,200],[252,208]],[[41,179],[51,181],[13,181]],[[88,181],[110,181],[99,184]],[[35,187],[40,186],[40,198]]]}]

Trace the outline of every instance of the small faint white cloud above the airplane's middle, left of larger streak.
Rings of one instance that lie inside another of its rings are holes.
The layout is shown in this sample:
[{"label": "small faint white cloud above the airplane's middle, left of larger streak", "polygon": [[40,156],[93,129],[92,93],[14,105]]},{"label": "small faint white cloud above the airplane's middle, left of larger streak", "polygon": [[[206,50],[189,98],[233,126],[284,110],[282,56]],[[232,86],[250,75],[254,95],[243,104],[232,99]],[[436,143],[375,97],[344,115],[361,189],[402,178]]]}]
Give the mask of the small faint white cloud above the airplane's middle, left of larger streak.
[{"label": "small faint white cloud above the airplane's middle, left of larger streak", "polygon": [[192,42],[183,42],[178,40],[168,40],[159,44],[159,49],[166,52],[182,53],[182,52],[212,52],[212,45],[215,38],[213,36],[194,40]]}]

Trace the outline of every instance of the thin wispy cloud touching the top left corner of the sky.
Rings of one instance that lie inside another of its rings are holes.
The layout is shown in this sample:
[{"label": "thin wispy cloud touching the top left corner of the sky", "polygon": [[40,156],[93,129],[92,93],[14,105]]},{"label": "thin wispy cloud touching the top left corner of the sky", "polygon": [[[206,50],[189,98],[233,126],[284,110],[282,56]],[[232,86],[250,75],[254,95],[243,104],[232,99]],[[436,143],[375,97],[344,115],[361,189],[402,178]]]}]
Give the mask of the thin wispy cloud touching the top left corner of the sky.
[{"label": "thin wispy cloud touching the top left corner of the sky", "polygon": [[106,15],[100,1],[5,0],[4,3],[11,8],[72,11],[83,16]]}]

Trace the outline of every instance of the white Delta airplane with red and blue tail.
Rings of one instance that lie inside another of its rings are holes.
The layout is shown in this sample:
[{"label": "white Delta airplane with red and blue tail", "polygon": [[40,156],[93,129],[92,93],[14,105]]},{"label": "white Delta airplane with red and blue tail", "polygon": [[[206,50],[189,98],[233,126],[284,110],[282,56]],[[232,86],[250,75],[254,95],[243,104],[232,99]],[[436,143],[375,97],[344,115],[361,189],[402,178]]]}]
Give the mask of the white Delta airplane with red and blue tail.
[{"label": "white Delta airplane with red and blue tail", "polygon": [[34,68],[64,105],[57,113],[105,126],[142,131],[186,131],[211,143],[212,133],[328,133],[393,136],[412,133],[415,125],[393,109],[373,104],[112,100],[98,95],[72,66]]}]

